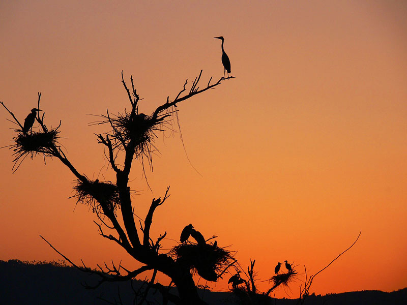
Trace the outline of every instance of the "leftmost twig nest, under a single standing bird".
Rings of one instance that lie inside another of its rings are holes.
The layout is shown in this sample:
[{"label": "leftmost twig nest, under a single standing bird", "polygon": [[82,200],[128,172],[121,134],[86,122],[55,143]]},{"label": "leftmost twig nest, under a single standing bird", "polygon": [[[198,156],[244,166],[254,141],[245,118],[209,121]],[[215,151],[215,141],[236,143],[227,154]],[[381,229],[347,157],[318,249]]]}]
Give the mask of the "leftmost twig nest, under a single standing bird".
[{"label": "leftmost twig nest, under a single standing bird", "polygon": [[[32,156],[37,154],[53,156],[54,150],[59,147],[57,142],[59,133],[57,128],[46,132],[19,132],[18,136],[13,139],[15,144],[10,146],[10,149],[14,150],[13,155],[15,156],[13,169],[17,170],[24,158],[30,154]],[[19,162],[21,158],[22,160]]]}]

